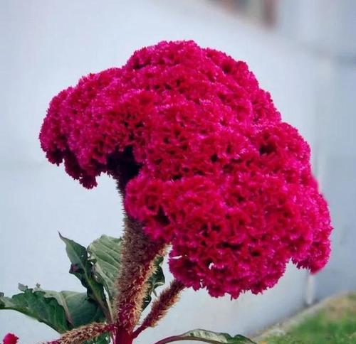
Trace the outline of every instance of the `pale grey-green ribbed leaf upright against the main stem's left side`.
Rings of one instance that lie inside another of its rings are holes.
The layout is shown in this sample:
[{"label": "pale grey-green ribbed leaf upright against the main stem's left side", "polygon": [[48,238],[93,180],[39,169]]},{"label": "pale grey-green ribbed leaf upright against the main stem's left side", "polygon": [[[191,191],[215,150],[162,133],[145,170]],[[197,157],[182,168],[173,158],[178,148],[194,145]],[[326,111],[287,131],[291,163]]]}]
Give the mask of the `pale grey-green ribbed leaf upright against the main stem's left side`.
[{"label": "pale grey-green ribbed leaf upright against the main stem's left side", "polygon": [[115,298],[115,281],[120,268],[122,240],[102,235],[88,246],[89,260],[93,263],[96,281],[103,284],[110,301]]}]

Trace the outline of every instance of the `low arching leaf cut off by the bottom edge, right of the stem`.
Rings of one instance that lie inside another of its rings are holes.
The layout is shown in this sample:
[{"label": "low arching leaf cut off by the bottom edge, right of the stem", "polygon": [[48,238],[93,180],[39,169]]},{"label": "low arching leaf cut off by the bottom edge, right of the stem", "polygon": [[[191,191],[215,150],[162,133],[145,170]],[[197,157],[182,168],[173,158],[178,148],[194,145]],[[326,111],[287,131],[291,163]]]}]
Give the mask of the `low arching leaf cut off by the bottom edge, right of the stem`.
[{"label": "low arching leaf cut off by the bottom edge, right of the stem", "polygon": [[216,333],[200,329],[191,330],[183,333],[182,335],[174,335],[172,337],[159,340],[156,344],[172,343],[179,340],[198,340],[200,342],[210,344],[256,344],[243,335],[235,335],[234,337],[231,337],[231,335],[228,335],[227,333]]}]

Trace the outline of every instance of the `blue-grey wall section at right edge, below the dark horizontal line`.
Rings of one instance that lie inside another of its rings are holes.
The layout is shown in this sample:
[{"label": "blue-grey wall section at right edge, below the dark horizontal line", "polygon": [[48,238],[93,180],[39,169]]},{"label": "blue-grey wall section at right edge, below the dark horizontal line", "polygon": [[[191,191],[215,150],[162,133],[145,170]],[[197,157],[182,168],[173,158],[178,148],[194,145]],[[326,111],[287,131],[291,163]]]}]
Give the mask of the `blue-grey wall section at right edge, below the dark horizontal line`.
[{"label": "blue-grey wall section at right edge, below the dark horizontal line", "polygon": [[320,178],[335,227],[333,254],[317,277],[318,297],[356,289],[356,48],[354,58],[344,57],[324,59],[330,99],[318,114]]}]

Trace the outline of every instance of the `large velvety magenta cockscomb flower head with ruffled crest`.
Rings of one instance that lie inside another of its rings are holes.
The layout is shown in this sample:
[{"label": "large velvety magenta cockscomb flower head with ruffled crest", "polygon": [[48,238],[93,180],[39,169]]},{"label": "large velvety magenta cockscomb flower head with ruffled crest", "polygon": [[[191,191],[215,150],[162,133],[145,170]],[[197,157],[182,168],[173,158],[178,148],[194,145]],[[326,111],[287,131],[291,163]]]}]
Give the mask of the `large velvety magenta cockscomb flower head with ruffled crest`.
[{"label": "large velvety magenta cockscomb flower head with ruffled crest", "polygon": [[290,260],[311,272],[328,260],[308,144],[224,53],[193,41],[138,50],[54,97],[40,139],[86,188],[102,172],[128,181],[127,213],[172,244],[186,286],[236,298],[276,284]]}]

